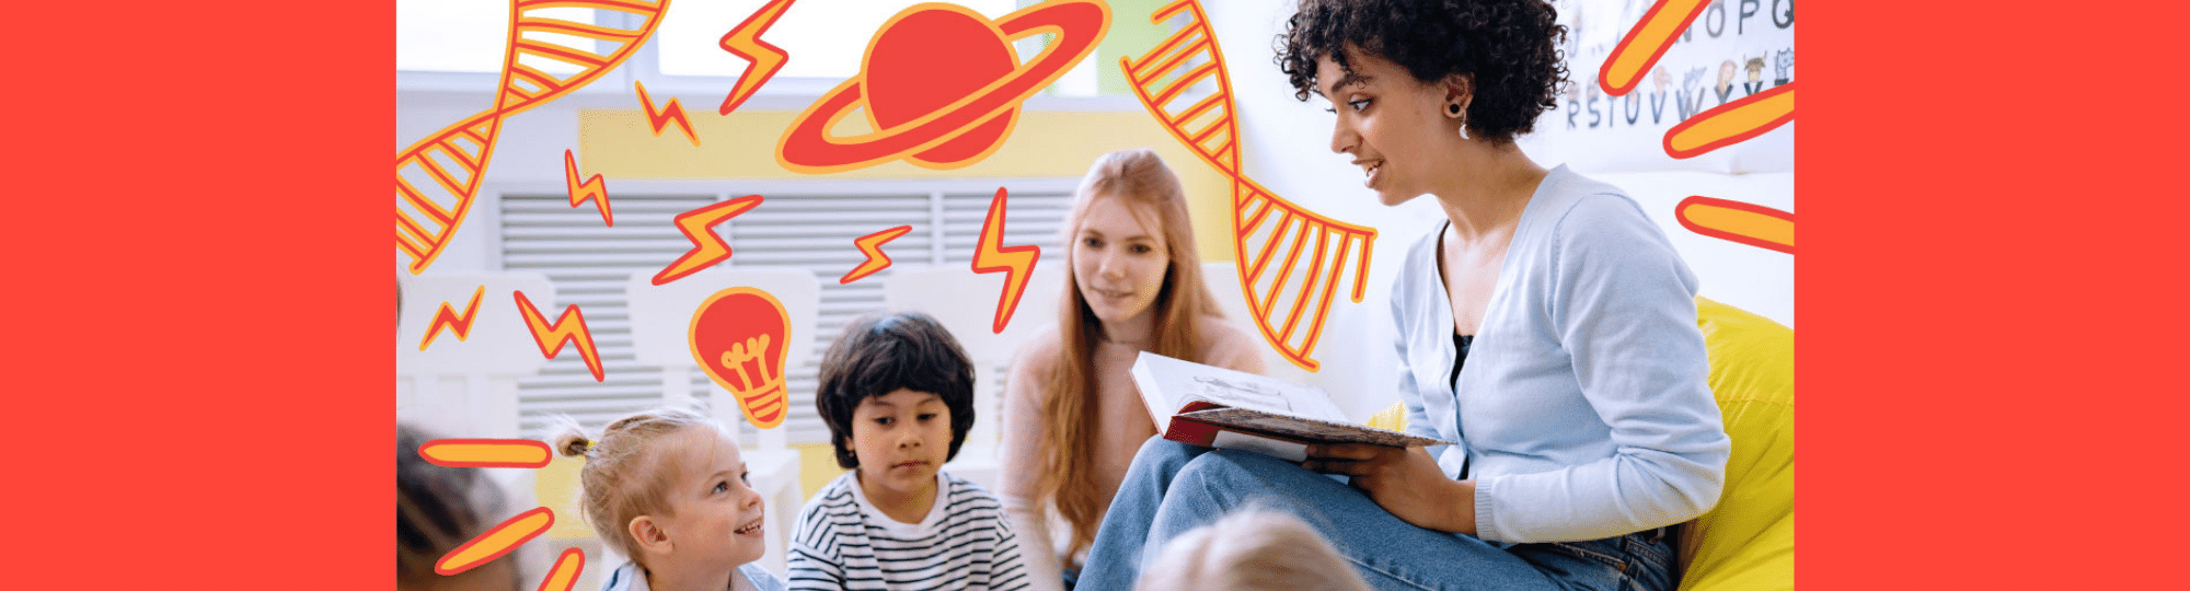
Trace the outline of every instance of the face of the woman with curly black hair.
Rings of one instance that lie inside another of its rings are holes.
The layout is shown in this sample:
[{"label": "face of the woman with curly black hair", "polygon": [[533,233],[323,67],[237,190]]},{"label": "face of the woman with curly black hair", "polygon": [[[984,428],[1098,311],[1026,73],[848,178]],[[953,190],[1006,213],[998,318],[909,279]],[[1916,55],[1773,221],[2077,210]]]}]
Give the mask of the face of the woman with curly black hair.
[{"label": "face of the woman with curly black hair", "polygon": [[1378,201],[1397,206],[1430,193],[1439,164],[1434,153],[1461,142],[1445,107],[1443,85],[1421,83],[1399,63],[1369,53],[1349,53],[1353,72],[1325,55],[1316,61],[1316,92],[1332,103],[1332,151],[1353,155],[1364,186]]}]

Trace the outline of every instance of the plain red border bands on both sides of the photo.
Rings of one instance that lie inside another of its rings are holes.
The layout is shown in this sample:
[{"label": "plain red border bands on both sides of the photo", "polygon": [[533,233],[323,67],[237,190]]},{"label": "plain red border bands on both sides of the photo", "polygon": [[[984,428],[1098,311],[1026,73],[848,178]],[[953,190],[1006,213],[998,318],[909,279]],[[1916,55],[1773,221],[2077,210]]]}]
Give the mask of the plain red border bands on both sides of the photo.
[{"label": "plain red border bands on both sides of the photo", "polygon": [[[1800,589],[2166,580],[2186,15],[1805,4]],[[11,582],[388,589],[392,11],[18,20]]]}]

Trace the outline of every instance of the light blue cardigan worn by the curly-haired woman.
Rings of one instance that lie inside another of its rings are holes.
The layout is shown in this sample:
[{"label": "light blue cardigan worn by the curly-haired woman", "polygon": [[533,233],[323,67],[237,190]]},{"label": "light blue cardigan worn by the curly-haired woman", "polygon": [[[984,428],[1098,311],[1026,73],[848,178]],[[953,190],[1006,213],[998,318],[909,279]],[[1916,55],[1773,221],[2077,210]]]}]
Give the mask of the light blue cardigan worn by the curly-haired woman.
[{"label": "light blue cardigan worn by the curly-haired woman", "polygon": [[1485,541],[1592,541],[1708,512],[1732,442],[1710,398],[1695,274],[1642,208],[1566,166],[1537,186],[1507,247],[1459,392],[1443,225],[1393,282],[1408,431],[1448,477],[1476,479]]}]

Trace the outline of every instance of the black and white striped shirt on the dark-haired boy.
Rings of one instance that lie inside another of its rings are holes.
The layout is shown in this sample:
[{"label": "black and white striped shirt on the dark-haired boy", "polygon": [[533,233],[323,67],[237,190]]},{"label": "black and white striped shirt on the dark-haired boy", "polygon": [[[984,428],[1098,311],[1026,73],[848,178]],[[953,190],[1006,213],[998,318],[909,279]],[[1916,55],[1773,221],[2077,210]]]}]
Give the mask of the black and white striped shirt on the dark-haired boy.
[{"label": "black and white striped shirt on the dark-haired boy", "polygon": [[935,508],[920,523],[885,517],[845,473],[799,508],[791,536],[791,589],[1027,589],[1018,536],[1003,501],[979,484],[937,473]]}]

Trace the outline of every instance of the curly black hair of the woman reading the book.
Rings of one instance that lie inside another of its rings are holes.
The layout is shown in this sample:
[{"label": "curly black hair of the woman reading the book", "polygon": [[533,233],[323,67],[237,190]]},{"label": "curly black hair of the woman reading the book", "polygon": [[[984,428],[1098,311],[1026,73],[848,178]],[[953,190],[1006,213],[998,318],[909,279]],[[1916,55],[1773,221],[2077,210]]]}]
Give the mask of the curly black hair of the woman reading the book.
[{"label": "curly black hair of the woman reading the book", "polygon": [[1467,127],[1511,142],[1557,107],[1566,26],[1544,0],[1301,0],[1277,37],[1277,68],[1292,96],[1316,94],[1316,59],[1353,72],[1347,48],[1399,63],[1424,83],[1474,74]]}]

